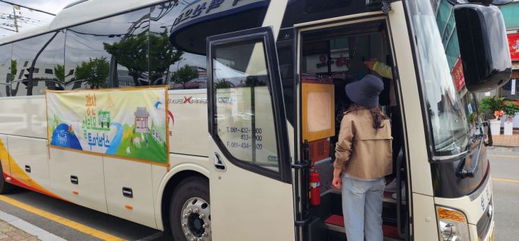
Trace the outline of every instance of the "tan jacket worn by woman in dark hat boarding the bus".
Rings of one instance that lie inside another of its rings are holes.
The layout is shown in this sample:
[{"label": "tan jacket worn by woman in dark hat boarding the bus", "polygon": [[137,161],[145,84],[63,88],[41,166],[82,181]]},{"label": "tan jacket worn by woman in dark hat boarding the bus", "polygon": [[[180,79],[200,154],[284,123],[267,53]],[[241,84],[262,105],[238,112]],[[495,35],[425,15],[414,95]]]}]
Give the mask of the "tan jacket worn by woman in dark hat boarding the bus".
[{"label": "tan jacket worn by woman in dark hat boarding the bus", "polygon": [[353,178],[374,179],[392,174],[392,137],[389,119],[373,128],[369,110],[344,113],[335,147],[334,168]]}]

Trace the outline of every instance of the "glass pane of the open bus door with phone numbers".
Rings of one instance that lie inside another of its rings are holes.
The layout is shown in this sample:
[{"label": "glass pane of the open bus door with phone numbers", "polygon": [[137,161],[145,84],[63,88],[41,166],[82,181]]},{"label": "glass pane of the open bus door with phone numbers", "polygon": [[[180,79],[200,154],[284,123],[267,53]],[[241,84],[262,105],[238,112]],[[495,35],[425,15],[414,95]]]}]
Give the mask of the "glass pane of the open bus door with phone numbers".
[{"label": "glass pane of the open bus door with phone numbers", "polygon": [[265,47],[259,40],[215,46],[215,130],[233,158],[278,173],[266,61]]}]

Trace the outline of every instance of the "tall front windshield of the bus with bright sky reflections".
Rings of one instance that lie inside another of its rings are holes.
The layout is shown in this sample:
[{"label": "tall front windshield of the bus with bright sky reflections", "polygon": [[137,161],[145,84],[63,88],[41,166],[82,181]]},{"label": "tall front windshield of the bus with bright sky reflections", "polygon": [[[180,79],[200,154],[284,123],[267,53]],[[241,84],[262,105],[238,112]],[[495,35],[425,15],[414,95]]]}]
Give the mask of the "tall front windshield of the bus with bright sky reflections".
[{"label": "tall front windshield of the bus with bright sky reflections", "polygon": [[467,149],[469,128],[449,72],[435,15],[427,0],[408,3],[435,156],[456,155]]}]

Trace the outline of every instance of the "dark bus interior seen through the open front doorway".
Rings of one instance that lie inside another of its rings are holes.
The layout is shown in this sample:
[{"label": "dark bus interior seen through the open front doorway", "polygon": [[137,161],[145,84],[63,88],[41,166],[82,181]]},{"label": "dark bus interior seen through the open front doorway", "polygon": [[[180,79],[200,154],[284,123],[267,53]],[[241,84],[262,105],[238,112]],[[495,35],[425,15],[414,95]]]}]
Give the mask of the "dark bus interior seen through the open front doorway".
[{"label": "dark bus interior seen through the open front doorway", "polygon": [[[327,240],[346,239],[341,190],[331,187],[334,147],[343,113],[351,104],[346,96],[345,87],[366,74],[373,74],[364,61],[376,58],[391,66],[391,51],[385,36],[387,28],[384,21],[348,24],[302,33],[302,140],[309,144],[309,156],[320,174],[321,183],[321,203],[312,206],[312,214],[317,219],[310,225],[311,237],[322,238],[324,234],[327,235]],[[389,87],[393,81],[385,79],[384,82],[385,91],[382,94],[394,91]],[[389,94],[386,94],[387,97],[382,97],[382,94],[380,109],[390,116]],[[394,119],[392,123],[401,125],[394,123],[395,121],[399,122]],[[398,147],[402,146],[401,143],[395,144]],[[387,181],[390,181],[389,178]],[[382,220],[385,236],[399,240],[401,237],[396,229],[396,200],[392,198],[393,193],[384,194]],[[402,212],[404,215],[404,210]],[[323,224],[327,228],[322,228]]]}]

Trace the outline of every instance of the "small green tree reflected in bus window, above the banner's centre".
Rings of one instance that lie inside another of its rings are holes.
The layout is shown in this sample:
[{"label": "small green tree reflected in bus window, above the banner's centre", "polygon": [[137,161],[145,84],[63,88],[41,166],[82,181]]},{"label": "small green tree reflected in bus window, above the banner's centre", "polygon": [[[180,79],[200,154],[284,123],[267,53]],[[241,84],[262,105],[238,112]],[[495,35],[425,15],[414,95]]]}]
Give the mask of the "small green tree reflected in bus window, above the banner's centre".
[{"label": "small green tree reflected in bus window, above the banner's centre", "polygon": [[82,62],[74,72],[76,80],[82,80],[90,85],[91,89],[99,89],[105,86],[110,64],[107,58],[90,58],[88,62]]}]

